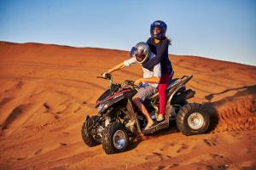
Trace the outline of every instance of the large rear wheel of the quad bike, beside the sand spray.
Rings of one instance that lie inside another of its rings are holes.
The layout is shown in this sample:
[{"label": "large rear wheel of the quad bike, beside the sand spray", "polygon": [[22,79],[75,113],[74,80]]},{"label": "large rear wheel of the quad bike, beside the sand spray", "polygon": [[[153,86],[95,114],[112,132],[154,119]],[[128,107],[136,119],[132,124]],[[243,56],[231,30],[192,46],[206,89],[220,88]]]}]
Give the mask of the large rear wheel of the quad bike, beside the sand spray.
[{"label": "large rear wheel of the quad bike, beside the sand spray", "polygon": [[184,105],[177,112],[177,127],[185,135],[206,133],[210,116],[205,107],[197,103]]}]

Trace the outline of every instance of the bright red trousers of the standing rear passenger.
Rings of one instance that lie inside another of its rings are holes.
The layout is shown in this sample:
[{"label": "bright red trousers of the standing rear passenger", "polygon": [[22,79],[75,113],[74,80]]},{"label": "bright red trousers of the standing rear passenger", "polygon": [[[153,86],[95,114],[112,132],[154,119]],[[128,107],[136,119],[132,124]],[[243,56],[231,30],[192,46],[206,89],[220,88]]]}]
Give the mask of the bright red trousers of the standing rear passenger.
[{"label": "bright red trousers of the standing rear passenger", "polygon": [[166,88],[168,86],[168,82],[172,79],[171,74],[164,74],[160,78],[158,91],[159,91],[159,113],[165,115],[166,113]]}]

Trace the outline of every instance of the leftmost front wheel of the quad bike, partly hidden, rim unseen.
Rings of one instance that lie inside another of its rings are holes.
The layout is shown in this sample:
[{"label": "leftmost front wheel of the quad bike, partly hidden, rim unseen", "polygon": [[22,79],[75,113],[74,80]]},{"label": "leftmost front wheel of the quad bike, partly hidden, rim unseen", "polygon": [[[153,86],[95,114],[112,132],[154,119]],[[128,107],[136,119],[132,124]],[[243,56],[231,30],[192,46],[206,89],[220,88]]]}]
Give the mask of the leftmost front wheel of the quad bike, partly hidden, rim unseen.
[{"label": "leftmost front wheel of the quad bike, partly hidden, rim unseen", "polygon": [[97,144],[100,144],[99,141],[93,138],[92,134],[90,133],[89,127],[91,127],[95,122],[98,116],[87,116],[86,120],[83,123],[81,133],[82,133],[82,138],[84,140],[84,144],[93,147],[96,146]]}]

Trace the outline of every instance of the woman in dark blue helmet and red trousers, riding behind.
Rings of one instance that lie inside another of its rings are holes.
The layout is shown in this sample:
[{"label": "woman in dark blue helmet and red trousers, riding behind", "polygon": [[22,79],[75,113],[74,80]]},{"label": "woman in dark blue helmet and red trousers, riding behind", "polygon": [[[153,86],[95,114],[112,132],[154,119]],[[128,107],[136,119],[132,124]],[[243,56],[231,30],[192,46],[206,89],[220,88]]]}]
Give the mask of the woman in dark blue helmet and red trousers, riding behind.
[{"label": "woman in dark blue helmet and red trousers, riding behind", "polygon": [[[143,63],[143,67],[148,70],[152,70],[154,65],[160,63],[161,65],[161,77],[159,82],[159,96],[160,96],[160,108],[157,116],[157,121],[154,125],[164,122],[165,110],[166,110],[166,88],[168,82],[172,79],[172,63],[168,57],[168,47],[171,41],[166,37],[166,23],[161,20],[154,21],[150,26],[151,37],[148,38],[148,46],[150,50],[156,55],[150,62]],[[153,125],[153,126],[154,126]]]}]

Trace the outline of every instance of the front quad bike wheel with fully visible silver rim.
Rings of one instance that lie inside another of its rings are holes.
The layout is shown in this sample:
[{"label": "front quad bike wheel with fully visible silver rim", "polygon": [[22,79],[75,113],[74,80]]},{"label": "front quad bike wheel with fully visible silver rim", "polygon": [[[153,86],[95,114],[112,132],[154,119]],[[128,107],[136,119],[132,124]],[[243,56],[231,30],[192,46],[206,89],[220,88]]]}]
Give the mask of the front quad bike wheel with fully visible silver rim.
[{"label": "front quad bike wheel with fully visible silver rim", "polygon": [[122,152],[126,150],[128,140],[125,126],[119,122],[112,122],[103,131],[102,147],[107,154]]}]

